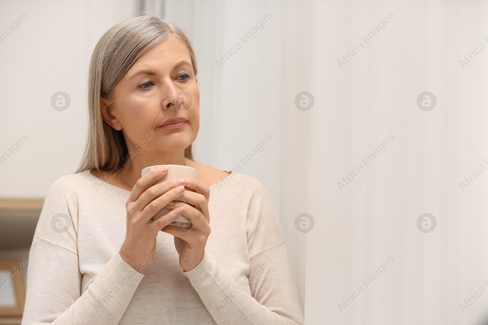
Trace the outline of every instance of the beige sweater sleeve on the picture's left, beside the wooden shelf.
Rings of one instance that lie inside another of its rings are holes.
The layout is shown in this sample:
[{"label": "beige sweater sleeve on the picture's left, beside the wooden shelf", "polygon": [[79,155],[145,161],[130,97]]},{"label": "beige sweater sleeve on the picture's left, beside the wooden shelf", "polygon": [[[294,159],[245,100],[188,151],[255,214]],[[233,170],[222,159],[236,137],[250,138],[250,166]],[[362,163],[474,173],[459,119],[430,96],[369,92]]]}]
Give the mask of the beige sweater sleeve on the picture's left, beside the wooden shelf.
[{"label": "beige sweater sleeve on the picture's left, beside the wooden shelf", "polygon": [[144,277],[117,252],[81,294],[81,200],[66,177],[48,190],[29,252],[22,325],[116,325]]}]

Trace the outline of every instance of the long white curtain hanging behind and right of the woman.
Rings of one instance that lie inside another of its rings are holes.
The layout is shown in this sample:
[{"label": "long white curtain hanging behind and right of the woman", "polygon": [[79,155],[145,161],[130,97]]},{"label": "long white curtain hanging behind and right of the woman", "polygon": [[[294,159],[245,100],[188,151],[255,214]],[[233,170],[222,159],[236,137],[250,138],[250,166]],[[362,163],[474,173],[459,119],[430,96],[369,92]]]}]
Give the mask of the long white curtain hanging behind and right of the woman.
[{"label": "long white curtain hanging behind and right of the woman", "polygon": [[242,172],[279,212],[306,324],[485,320],[486,2],[163,4],[197,51],[201,161],[243,166],[273,137]]}]

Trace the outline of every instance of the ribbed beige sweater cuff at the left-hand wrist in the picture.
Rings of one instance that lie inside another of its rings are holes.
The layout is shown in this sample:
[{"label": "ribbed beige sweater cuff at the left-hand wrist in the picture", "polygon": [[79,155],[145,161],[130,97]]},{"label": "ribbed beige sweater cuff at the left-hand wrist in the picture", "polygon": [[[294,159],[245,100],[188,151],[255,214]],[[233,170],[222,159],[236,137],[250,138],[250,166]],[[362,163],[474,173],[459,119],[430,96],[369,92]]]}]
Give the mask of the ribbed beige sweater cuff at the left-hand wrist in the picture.
[{"label": "ribbed beige sweater cuff at the left-hand wrist in the picture", "polygon": [[143,274],[122,260],[117,252],[95,277],[88,290],[103,308],[121,319],[143,277]]}]

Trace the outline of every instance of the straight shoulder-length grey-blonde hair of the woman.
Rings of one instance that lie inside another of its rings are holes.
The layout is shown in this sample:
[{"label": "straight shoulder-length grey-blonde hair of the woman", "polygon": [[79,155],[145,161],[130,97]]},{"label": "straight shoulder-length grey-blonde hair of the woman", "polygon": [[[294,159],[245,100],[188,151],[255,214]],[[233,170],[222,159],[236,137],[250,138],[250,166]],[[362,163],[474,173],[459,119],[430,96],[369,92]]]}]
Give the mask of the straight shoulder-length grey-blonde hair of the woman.
[{"label": "straight shoulder-length grey-blonde hair of the woman", "polygon": [[[151,14],[119,22],[103,34],[93,50],[88,72],[88,135],[80,166],[87,169],[120,169],[130,159],[122,134],[102,119],[100,96],[109,103],[115,100],[114,87],[144,52],[168,37],[179,38],[187,46],[197,75],[197,60],[189,38],[167,19]],[[193,160],[191,144],[184,156]]]}]

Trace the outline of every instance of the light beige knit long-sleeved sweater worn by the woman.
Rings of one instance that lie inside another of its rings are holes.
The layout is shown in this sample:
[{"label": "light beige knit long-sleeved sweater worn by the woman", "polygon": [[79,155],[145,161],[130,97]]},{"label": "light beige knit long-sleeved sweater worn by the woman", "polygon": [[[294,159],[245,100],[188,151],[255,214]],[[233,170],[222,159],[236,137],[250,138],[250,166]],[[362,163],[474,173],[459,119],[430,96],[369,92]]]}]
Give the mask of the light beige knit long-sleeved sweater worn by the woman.
[{"label": "light beige knit long-sleeved sweater worn by the woman", "polygon": [[163,231],[142,274],[122,260],[129,194],[88,170],[51,185],[30,249],[22,325],[304,324],[283,231],[256,178],[233,172],[210,186],[212,231],[188,272]]}]

